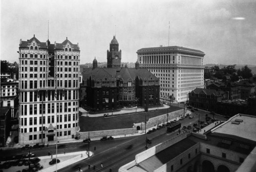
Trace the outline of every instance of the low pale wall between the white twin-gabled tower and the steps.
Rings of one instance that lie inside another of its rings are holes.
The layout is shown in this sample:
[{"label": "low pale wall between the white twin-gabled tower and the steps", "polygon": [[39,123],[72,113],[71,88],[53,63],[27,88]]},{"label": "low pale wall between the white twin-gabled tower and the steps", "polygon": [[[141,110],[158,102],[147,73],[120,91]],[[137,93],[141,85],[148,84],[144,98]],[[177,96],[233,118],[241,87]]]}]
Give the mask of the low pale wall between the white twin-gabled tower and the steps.
[{"label": "low pale wall between the white twin-gabled tower and the steps", "polygon": [[[103,130],[90,132],[90,138],[102,138],[103,136],[119,136],[137,133],[136,128],[124,128],[118,130]],[[77,132],[80,134],[81,139],[88,138],[89,132]]]}]

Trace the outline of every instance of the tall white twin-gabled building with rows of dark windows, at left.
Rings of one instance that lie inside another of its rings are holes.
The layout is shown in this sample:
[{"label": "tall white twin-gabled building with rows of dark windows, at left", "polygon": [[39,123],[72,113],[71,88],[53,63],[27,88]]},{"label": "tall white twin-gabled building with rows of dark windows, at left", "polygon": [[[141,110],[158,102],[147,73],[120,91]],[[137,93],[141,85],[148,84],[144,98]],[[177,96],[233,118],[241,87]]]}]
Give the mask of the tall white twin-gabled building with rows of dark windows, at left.
[{"label": "tall white twin-gabled building with rows of dark windows, at left", "polygon": [[50,44],[34,36],[20,39],[18,53],[19,144],[74,138],[79,127],[78,44],[68,38]]}]

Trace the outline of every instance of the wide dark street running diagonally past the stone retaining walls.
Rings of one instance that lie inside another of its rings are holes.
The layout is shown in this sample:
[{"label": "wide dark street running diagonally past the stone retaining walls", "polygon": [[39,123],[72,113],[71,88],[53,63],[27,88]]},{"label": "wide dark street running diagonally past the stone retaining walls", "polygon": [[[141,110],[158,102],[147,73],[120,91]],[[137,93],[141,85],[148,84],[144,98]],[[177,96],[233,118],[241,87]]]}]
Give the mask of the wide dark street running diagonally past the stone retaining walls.
[{"label": "wide dark street running diagonally past the stone retaining walls", "polygon": [[[205,121],[205,112],[196,111],[191,113],[190,116],[194,118],[184,118],[181,121],[182,126],[192,125],[198,123],[198,120]],[[209,117],[212,118],[212,114],[207,113]],[[200,116],[200,118],[199,118]],[[223,116],[215,115],[215,118],[218,120],[226,120]],[[191,132],[192,130],[190,130]],[[181,130],[180,132],[184,132]],[[115,138],[113,140],[106,141],[91,141],[90,151],[94,155],[86,160],[82,160],[75,164],[72,164],[66,168],[60,169],[58,171],[78,171],[79,167],[83,171],[118,171],[118,169],[135,159],[135,155],[145,150],[146,138],[152,140],[151,144],[147,143],[147,147],[150,148],[155,146],[166,139],[169,139],[177,135],[179,131],[173,133],[167,133],[166,127],[157,130],[151,134],[140,135],[135,137],[126,137],[126,138]],[[88,144],[78,142],[78,143],[68,143],[63,146],[63,148],[58,148],[58,153],[69,153],[69,152],[78,152],[82,150],[87,150],[89,148]],[[11,149],[11,150],[2,150],[2,155],[15,156],[19,154],[27,154],[29,150],[22,149]],[[43,148],[32,148],[30,152],[36,156],[46,156],[48,152],[55,154],[56,146],[51,145],[49,147],[45,146]],[[89,169],[90,164],[90,169]],[[101,164],[103,167],[101,167]],[[95,169],[94,169],[95,167]]]}]

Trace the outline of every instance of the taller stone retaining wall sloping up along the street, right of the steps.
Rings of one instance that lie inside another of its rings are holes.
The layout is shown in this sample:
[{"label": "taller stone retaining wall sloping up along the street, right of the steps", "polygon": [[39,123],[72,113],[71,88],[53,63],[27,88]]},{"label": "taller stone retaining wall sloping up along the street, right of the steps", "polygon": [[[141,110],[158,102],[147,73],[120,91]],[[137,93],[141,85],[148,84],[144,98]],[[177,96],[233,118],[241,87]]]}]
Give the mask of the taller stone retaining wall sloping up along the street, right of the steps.
[{"label": "taller stone retaining wall sloping up along the street, right of the steps", "polygon": [[[186,110],[185,110],[186,113]],[[178,118],[184,114],[184,110],[178,110],[175,112],[168,113],[168,121]],[[167,121],[167,115],[163,114],[154,118],[147,119],[146,121],[146,128],[151,128],[153,126],[157,126],[157,124],[165,123]],[[140,127],[140,130],[145,130],[145,122],[142,123],[134,123],[134,127]]]}]

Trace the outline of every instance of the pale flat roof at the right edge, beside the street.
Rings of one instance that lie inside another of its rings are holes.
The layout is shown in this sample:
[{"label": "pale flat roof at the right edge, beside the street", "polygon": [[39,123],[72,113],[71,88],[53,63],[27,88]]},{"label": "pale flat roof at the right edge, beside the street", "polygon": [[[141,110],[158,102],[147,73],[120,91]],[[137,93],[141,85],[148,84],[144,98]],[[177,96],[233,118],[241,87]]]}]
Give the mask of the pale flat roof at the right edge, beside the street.
[{"label": "pale flat roof at the right edge, beside the street", "polygon": [[[240,119],[243,122],[233,122]],[[236,124],[238,123],[238,124]],[[253,130],[252,130],[253,128]],[[212,130],[212,133],[225,134],[256,141],[256,116],[237,114]]]}]

